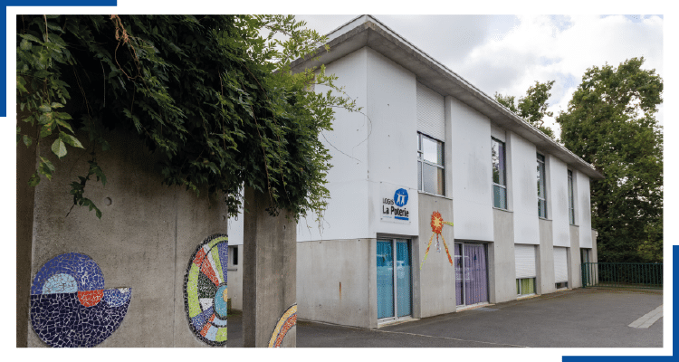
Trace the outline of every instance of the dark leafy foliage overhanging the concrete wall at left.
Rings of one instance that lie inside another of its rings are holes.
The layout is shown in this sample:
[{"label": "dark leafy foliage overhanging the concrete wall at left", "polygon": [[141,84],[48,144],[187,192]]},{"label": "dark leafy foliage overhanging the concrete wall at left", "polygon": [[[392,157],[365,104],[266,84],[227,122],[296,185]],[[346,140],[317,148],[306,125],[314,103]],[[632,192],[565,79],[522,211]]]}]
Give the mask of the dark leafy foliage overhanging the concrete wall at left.
[{"label": "dark leafy foliage overhanging the concrete wall at left", "polygon": [[290,71],[325,43],[304,25],[282,15],[18,16],[16,92],[28,116],[17,147],[52,145],[30,184],[90,138],[89,174],[71,193],[100,217],[83,191],[91,176],[106,183],[97,155],[110,148],[107,129],[125,129],[158,154],[165,184],[220,193],[230,214],[242,186],[268,194],[272,214],[320,212],[330,169],[320,132],[334,107],[356,108],[322,67]]}]

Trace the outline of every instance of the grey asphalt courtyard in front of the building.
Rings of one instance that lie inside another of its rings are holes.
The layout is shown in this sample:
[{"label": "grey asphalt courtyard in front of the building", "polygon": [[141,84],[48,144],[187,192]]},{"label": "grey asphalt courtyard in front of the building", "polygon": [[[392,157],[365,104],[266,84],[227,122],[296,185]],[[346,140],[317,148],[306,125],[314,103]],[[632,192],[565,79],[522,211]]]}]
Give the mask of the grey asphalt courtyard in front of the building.
[{"label": "grey asphalt courtyard in front of the building", "polygon": [[[662,304],[662,291],[578,289],[372,330],[298,320],[297,347],[662,348]],[[242,347],[242,316],[228,320],[227,346]]]}]

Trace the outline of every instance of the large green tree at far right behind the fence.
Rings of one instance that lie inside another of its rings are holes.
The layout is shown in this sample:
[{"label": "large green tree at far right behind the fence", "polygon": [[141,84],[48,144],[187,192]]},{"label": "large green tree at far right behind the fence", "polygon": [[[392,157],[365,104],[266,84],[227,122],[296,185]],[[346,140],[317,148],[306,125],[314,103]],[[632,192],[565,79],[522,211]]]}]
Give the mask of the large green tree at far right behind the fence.
[{"label": "large green tree at far right behind the fence", "polygon": [[662,262],[663,80],[643,64],[588,69],[557,117],[565,146],[606,177],[591,183],[601,262]]}]

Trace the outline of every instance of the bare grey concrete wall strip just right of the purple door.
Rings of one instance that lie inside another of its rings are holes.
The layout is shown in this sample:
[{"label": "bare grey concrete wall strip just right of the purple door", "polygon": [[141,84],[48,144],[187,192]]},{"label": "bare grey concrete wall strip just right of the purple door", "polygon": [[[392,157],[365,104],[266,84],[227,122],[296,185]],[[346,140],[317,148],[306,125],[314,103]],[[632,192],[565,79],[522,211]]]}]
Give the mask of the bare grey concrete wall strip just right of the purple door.
[{"label": "bare grey concrete wall strip just right of the purple door", "polygon": [[488,297],[491,303],[516,299],[513,229],[512,212],[493,209],[495,241],[488,245]]}]

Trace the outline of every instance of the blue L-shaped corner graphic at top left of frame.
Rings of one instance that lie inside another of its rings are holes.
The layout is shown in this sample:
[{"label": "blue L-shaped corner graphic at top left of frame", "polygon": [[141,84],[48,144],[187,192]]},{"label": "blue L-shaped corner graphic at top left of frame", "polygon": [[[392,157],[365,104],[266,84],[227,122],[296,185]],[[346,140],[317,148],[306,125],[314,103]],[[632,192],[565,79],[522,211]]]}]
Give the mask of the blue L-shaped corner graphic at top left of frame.
[{"label": "blue L-shaped corner graphic at top left of frame", "polygon": [[[117,6],[118,0],[6,0],[4,1],[5,6],[3,6],[3,16],[2,16],[2,29],[6,31],[7,29],[7,7],[9,6]],[[69,13],[68,10],[64,9],[64,13]],[[2,50],[3,50],[3,68],[7,69],[7,34],[3,33],[2,36]],[[0,77],[2,77],[3,84],[7,84],[7,73],[5,71]],[[2,89],[3,102],[2,107],[0,107],[0,117],[7,117],[7,88],[0,87]]]}]

